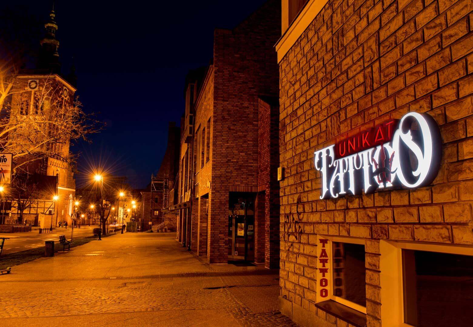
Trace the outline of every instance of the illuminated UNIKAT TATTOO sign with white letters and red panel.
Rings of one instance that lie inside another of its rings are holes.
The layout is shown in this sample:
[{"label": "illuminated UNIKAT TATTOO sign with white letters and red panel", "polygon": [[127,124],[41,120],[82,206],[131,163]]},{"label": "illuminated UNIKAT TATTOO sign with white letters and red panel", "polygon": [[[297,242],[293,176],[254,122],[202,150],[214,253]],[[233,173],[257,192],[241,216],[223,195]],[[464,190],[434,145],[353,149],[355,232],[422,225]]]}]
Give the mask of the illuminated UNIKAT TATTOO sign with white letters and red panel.
[{"label": "illuminated UNIKAT TATTOO sign with white letters and red panel", "polygon": [[417,188],[437,176],[442,156],[440,130],[428,114],[409,112],[315,152],[321,199],[400,185]]}]

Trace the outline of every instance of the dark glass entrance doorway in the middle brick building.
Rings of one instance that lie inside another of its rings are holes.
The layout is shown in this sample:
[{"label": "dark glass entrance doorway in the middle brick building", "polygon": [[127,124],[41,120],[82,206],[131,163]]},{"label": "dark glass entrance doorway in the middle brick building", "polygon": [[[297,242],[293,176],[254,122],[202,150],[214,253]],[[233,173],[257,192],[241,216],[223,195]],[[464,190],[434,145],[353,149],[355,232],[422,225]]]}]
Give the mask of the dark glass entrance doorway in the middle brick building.
[{"label": "dark glass entrance doorway in the middle brick building", "polygon": [[254,193],[230,192],[228,258],[254,261]]}]

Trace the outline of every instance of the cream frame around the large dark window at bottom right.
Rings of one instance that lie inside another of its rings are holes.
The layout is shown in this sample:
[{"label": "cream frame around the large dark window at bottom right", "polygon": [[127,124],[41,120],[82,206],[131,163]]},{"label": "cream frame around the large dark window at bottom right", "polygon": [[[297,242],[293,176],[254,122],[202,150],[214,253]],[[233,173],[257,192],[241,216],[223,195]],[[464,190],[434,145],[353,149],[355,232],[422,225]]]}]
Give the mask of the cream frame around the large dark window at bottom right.
[{"label": "cream frame around the large dark window at bottom right", "polygon": [[472,255],[473,247],[420,241],[379,242],[381,292],[381,321],[383,326],[412,327],[404,322],[403,250],[418,250],[446,254]]}]

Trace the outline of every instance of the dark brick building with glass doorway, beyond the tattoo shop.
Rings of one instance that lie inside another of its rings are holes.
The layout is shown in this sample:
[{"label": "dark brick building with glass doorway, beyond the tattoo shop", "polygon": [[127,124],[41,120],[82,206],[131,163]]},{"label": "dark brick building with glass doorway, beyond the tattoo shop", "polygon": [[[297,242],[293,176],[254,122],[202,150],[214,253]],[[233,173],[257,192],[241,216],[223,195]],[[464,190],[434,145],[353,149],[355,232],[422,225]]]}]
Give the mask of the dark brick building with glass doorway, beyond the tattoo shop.
[{"label": "dark brick building with glass doorway, beyond the tattoo shop", "polygon": [[279,267],[279,24],[268,1],[216,29],[212,63],[186,84],[178,240],[210,263]]}]

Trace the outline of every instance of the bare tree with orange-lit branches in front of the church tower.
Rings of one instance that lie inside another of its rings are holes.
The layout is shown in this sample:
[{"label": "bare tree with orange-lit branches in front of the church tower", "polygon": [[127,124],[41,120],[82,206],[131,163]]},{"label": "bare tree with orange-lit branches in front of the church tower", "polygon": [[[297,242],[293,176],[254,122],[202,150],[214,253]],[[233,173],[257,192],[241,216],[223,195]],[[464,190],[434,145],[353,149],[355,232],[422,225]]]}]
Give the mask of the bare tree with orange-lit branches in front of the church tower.
[{"label": "bare tree with orange-lit branches in front of the church tower", "polygon": [[70,142],[88,141],[100,122],[55,78],[39,79],[35,91],[26,83],[14,67],[0,69],[0,150],[13,154],[15,170],[47,157],[74,163]]}]

